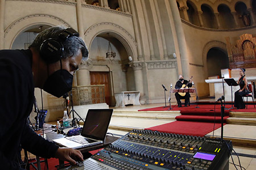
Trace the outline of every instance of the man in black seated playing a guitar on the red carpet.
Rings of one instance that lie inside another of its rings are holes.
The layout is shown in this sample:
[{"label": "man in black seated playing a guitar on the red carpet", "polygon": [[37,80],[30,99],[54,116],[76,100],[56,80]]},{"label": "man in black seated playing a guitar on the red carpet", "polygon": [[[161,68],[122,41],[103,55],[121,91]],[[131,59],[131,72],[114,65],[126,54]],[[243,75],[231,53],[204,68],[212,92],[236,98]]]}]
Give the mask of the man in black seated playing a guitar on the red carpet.
[{"label": "man in black seated playing a guitar on the red carpet", "polygon": [[[192,87],[192,83],[190,83],[190,80],[184,80],[183,75],[179,75],[179,81],[176,82],[175,89],[188,88],[188,87]],[[185,99],[185,107],[188,106],[189,97],[190,97],[189,92],[184,93],[184,94],[176,92],[175,97],[176,97],[177,104],[178,104],[179,108],[181,107],[180,99]]]}]

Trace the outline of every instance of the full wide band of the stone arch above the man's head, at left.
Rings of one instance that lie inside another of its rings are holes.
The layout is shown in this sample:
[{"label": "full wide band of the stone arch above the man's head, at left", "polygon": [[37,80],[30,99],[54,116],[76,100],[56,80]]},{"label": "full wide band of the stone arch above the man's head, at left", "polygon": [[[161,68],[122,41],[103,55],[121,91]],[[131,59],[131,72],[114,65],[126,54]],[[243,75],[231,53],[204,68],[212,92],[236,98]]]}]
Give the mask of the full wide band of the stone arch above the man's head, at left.
[{"label": "full wide band of the stone arch above the man's head, at left", "polygon": [[15,20],[5,29],[5,49],[10,49],[16,37],[26,28],[31,27],[32,25],[39,25],[39,24],[50,25],[50,26],[64,25],[65,27],[71,27],[64,20],[52,15],[45,15],[45,14],[27,15]]}]

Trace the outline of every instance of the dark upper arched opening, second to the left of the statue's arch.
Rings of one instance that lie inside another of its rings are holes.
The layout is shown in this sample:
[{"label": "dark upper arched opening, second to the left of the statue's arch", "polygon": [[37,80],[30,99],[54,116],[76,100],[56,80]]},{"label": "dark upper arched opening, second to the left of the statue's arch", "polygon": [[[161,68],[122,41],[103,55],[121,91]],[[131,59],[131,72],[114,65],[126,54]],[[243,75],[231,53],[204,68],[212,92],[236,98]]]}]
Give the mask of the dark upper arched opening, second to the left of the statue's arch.
[{"label": "dark upper arched opening, second to the left of the statue's arch", "polygon": [[203,4],[201,5],[201,10],[203,11],[202,19],[204,27],[217,28],[216,20],[214,18],[212,9],[208,5]]}]

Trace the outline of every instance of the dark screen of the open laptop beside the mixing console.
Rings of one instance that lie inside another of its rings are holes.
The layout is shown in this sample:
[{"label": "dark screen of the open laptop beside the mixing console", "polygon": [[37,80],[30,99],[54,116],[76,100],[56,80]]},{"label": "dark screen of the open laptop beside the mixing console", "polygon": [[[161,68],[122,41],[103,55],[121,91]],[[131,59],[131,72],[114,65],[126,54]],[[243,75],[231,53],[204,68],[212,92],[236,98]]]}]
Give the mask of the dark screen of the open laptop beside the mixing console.
[{"label": "dark screen of the open laptop beside the mixing console", "polygon": [[89,109],[81,135],[104,141],[112,113],[113,109]]}]

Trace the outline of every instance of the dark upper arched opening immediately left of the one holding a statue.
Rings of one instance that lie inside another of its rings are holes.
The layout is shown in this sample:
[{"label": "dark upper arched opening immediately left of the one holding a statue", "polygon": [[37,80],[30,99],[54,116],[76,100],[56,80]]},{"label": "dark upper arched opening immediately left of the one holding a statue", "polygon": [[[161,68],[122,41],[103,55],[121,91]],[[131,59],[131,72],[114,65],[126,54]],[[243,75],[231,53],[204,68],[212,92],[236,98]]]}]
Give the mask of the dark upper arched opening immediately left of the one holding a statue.
[{"label": "dark upper arched opening immediately left of the one holding a statue", "polygon": [[227,5],[221,4],[218,6],[218,12],[220,13],[218,19],[220,20],[221,27],[224,29],[234,28],[234,18],[230,8]]}]

